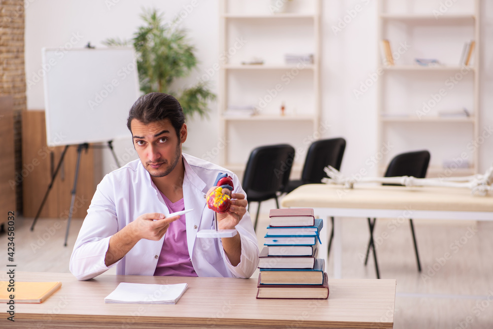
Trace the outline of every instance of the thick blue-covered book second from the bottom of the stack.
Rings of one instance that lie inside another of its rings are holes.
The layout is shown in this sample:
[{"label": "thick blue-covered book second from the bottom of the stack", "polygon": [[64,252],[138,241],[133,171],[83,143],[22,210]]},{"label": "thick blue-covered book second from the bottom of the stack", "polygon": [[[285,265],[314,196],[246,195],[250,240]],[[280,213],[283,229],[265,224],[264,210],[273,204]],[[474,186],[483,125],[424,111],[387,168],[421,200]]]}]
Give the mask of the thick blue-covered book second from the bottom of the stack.
[{"label": "thick blue-covered book second from the bottom of the stack", "polygon": [[325,262],[318,258],[313,268],[261,268],[260,284],[269,285],[321,285]]}]

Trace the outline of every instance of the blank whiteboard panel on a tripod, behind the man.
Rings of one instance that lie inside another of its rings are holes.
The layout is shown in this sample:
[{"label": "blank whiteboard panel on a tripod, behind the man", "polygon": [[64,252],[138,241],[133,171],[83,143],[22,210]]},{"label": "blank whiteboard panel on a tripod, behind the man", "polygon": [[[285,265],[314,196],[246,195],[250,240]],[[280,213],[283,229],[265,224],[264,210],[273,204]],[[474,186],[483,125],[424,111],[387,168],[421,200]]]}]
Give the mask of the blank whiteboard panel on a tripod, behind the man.
[{"label": "blank whiteboard panel on a tripod, behind the man", "polygon": [[129,137],[128,111],[139,98],[133,48],[43,48],[49,146]]}]

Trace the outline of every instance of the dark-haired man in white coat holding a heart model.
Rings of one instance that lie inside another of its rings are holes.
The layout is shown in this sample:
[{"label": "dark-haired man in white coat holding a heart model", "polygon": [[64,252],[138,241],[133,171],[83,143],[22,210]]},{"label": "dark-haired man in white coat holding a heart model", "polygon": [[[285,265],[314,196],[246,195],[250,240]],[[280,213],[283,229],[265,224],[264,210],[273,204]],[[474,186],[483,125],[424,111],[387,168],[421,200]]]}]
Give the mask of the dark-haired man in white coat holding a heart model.
[{"label": "dark-haired man in white coat holding a heart model", "polygon": [[[238,177],[181,153],[185,116],[170,95],[150,93],[127,120],[139,159],[107,174],[98,185],[70,257],[70,271],[91,279],[112,266],[117,274],[248,278],[258,264],[258,245]],[[211,229],[206,192],[219,172],[233,178],[232,205],[217,214],[230,238],[196,238]],[[194,209],[185,215],[172,212]]]}]

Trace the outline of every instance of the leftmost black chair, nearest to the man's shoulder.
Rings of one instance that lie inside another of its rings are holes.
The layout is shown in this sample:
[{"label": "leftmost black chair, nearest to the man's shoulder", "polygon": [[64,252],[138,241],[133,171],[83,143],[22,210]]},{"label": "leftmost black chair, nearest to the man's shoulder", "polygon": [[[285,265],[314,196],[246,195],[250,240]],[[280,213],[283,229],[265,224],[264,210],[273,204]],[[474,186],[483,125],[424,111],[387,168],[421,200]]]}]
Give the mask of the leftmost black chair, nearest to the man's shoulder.
[{"label": "leftmost black chair, nearest to the man's shoulder", "polygon": [[272,198],[287,185],[294,162],[294,148],[287,144],[257,147],[246,163],[243,189],[248,202],[258,202],[254,229],[257,229],[260,203]]}]

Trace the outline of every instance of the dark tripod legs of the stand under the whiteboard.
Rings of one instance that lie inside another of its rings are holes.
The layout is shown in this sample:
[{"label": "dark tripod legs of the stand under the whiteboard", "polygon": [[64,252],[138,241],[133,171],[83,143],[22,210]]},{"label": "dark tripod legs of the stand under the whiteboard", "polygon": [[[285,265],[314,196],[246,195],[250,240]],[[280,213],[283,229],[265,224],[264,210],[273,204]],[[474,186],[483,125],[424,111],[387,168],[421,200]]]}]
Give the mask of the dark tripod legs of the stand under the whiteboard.
[{"label": "dark tripod legs of the stand under the whiteboard", "polygon": [[[118,162],[118,159],[116,157],[115,151],[113,149],[113,141],[109,140],[108,141],[108,147],[111,150],[111,154],[113,154],[113,158],[115,159],[116,165],[120,167],[120,164]],[[41,213],[41,210],[43,209],[44,203],[46,202],[46,199],[48,198],[48,195],[51,191],[51,188],[53,187],[53,182],[55,181],[55,178],[57,177],[58,171],[60,170],[60,167],[62,166],[63,160],[65,158],[65,154],[67,153],[67,149],[69,148],[70,145],[65,145],[65,148],[62,152],[62,155],[60,156],[60,161],[58,162],[57,168],[55,169],[55,172],[53,173],[53,176],[51,177],[51,182],[48,185],[48,190],[46,191],[43,200],[41,201],[41,205],[39,206],[39,209],[37,210],[36,217],[34,219],[33,225],[31,225],[31,230],[34,230],[34,226],[36,224],[36,221]],[[98,147],[99,145],[93,145],[93,147]],[[81,143],[77,146],[77,162],[75,164],[75,177],[73,179],[73,188],[72,191],[70,192],[72,195],[72,198],[70,200],[70,210],[69,210],[69,222],[67,223],[67,232],[65,233],[65,243],[64,246],[67,247],[67,239],[69,237],[69,229],[70,229],[70,221],[72,220],[72,213],[73,213],[73,204],[75,202],[75,191],[77,189],[77,180],[79,177],[79,166],[80,166],[80,156],[82,154],[82,150],[87,150],[89,149],[89,143]]]}]

